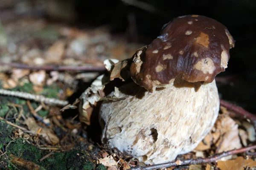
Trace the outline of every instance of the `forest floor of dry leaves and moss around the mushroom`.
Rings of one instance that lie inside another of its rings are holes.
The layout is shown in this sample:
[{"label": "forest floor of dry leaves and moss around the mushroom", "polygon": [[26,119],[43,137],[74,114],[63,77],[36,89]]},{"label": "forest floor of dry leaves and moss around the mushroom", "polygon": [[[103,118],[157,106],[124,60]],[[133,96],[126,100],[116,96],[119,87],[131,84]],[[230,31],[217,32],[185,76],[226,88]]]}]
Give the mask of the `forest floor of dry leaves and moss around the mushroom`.
[{"label": "forest floor of dry leaves and moss around the mushroom", "polygon": [[[108,58],[127,59],[143,44],[111,35],[108,27],[80,29],[44,19],[23,18],[0,25],[0,91],[5,89],[68,101],[71,105],[0,95],[0,169],[127,170],[143,165],[101,144],[92,127],[79,121],[76,99],[105,72]],[[216,79],[221,85],[222,79]],[[75,102],[75,103],[74,103]],[[72,103],[74,103],[72,105]],[[244,117],[243,117],[244,118]],[[206,138],[177,160],[206,159],[254,146],[252,120],[224,107]],[[252,170],[255,150],[218,161],[167,170]]]}]

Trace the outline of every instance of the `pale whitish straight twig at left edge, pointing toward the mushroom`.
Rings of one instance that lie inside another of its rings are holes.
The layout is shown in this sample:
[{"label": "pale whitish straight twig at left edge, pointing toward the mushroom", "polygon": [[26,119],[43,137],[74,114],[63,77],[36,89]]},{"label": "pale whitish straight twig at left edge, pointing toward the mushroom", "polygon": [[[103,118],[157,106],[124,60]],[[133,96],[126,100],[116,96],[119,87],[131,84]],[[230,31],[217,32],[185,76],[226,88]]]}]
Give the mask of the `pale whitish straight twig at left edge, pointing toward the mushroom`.
[{"label": "pale whitish straight twig at left edge, pointing toward the mushroom", "polygon": [[23,99],[34,100],[36,102],[44,102],[47,105],[65,106],[68,104],[68,102],[65,100],[47,98],[42,95],[34,95],[34,94],[29,94],[29,93],[19,92],[19,91],[9,91],[5,89],[0,89],[0,95],[14,96],[14,97],[19,97]]}]

